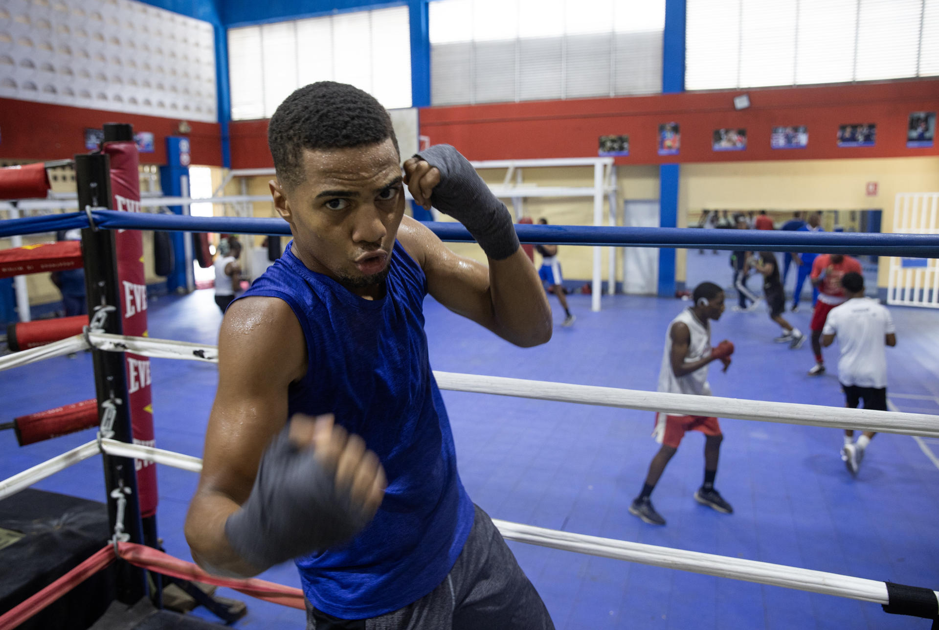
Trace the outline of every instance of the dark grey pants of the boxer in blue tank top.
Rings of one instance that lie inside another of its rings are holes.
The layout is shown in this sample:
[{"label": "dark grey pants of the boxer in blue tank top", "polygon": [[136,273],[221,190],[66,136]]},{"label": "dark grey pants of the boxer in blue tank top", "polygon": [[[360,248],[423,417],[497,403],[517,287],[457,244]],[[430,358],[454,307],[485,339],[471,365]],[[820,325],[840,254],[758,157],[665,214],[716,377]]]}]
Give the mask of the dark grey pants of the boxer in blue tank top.
[{"label": "dark grey pants of the boxer in blue tank top", "polygon": [[341,620],[306,603],[307,630],[554,630],[547,608],[477,505],[454,568],[432,592],[380,617]]}]

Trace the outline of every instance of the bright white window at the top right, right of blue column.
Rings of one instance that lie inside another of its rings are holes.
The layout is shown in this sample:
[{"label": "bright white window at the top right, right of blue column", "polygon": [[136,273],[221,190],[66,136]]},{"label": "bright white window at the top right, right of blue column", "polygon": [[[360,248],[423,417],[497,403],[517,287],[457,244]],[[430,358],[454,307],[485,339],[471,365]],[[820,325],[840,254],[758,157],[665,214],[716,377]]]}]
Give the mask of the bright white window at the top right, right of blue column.
[{"label": "bright white window at the top right, right of blue column", "polygon": [[939,0],[687,0],[685,89],[939,74]]}]

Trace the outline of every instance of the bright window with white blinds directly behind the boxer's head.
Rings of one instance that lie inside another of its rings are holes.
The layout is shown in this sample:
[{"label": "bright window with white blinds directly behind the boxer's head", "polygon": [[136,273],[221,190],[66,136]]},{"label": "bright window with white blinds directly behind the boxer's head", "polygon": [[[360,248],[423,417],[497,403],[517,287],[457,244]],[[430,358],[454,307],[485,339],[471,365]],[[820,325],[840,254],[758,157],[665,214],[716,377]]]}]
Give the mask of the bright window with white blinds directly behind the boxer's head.
[{"label": "bright window with white blinds directly behind the boxer's head", "polygon": [[302,85],[360,87],[387,109],[410,107],[408,7],[228,29],[232,118],[269,118]]}]

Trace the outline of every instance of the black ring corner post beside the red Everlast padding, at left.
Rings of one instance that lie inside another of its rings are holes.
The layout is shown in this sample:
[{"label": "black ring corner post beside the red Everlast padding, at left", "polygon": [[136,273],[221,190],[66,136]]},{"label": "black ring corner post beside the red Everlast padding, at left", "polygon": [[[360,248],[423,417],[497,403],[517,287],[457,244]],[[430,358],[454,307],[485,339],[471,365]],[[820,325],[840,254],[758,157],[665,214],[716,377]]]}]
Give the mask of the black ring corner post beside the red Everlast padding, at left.
[{"label": "black ring corner post beside the red Everlast padding, at left", "polygon": [[[75,183],[78,207],[111,207],[111,161],[103,153],[75,156]],[[82,230],[82,257],[85,262],[85,296],[88,315],[94,318],[101,311],[100,322],[105,332],[122,333],[121,302],[117,282],[117,248],[111,230]],[[128,407],[127,378],[124,353],[92,351],[95,370],[95,393],[102,414],[114,406],[112,436],[122,442],[133,441],[131,411]],[[137,495],[137,471],[134,460],[101,454],[104,463],[104,484],[108,491],[108,520],[112,533],[115,526],[127,533],[131,543],[144,543]],[[118,522],[123,513],[122,522]],[[117,599],[134,604],[146,595],[146,574],[128,562],[118,564]]]}]

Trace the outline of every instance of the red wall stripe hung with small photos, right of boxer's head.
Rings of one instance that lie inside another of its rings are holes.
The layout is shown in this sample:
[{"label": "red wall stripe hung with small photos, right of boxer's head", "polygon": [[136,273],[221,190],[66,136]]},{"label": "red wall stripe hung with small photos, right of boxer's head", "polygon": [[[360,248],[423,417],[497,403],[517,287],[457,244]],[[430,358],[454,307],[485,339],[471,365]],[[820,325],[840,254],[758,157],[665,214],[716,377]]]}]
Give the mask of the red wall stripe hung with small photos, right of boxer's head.
[{"label": "red wall stripe hung with small photos, right of boxer's head", "polygon": [[[747,91],[751,107],[735,111],[732,99]],[[939,81],[865,85],[685,92],[617,99],[551,100],[428,107],[421,132],[433,144],[456,146],[470,160],[565,158],[597,154],[601,135],[629,135],[621,164],[700,161],[808,160],[939,155],[939,146],[907,148],[907,117],[936,111]],[[658,125],[678,122],[681,152],[659,156]],[[839,125],[875,123],[876,146],[839,147]],[[806,125],[808,147],[770,148],[773,127]],[[712,133],[747,129],[747,150],[714,151]]]}]

